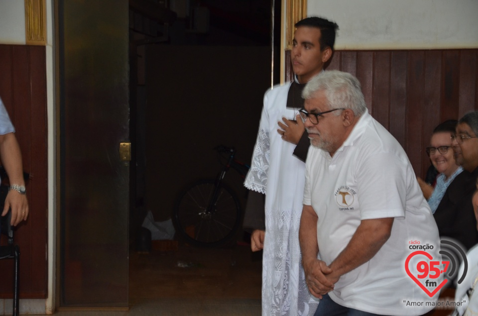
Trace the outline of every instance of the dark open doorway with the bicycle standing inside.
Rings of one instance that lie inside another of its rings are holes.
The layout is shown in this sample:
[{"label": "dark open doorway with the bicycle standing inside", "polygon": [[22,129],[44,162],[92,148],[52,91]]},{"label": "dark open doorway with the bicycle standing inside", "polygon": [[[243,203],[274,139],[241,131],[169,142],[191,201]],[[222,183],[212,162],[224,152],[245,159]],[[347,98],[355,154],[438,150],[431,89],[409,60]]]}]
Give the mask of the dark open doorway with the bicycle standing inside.
[{"label": "dark open doorway with the bicycle standing inside", "polygon": [[[250,162],[263,94],[279,82],[272,51],[278,65],[281,1],[151,1],[148,10],[132,2],[130,304],[141,295],[198,292],[198,298],[260,299],[260,256],[252,256],[241,229],[219,249],[184,248],[178,241],[163,251],[136,250],[148,211],[155,221],[167,221],[188,183],[215,177],[214,147],[235,147],[237,158]],[[225,181],[243,207],[242,179],[231,174]]]}]

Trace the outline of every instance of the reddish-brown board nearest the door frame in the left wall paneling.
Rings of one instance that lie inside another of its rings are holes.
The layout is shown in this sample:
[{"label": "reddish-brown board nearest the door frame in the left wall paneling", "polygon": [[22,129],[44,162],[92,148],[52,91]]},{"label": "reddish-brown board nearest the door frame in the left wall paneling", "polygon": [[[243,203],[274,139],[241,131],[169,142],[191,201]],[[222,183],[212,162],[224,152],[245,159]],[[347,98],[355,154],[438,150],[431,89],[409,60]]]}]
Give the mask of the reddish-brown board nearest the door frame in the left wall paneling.
[{"label": "reddish-brown board nearest the door frame in the left wall paneling", "polygon": [[[30,95],[31,95],[31,155],[30,170],[33,170],[30,186],[30,204],[48,205],[48,176],[47,155],[45,144],[47,143],[47,117],[46,117],[46,52],[43,46],[30,46]],[[47,216],[43,210],[38,210],[30,215],[31,235],[35,236],[34,245],[31,248],[31,273],[33,276],[41,276],[46,271],[44,258],[47,244]],[[38,293],[42,298],[45,292],[46,274],[44,278],[33,277],[31,279],[31,292]]]}]

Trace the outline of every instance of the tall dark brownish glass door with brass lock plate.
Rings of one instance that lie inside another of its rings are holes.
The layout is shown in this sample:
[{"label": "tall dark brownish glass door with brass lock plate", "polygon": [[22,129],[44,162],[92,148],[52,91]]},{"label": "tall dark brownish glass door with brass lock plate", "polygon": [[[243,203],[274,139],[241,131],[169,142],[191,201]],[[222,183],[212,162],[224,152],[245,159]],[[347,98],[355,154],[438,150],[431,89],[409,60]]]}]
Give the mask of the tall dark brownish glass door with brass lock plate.
[{"label": "tall dark brownish glass door with brass lock plate", "polygon": [[60,307],[128,304],[128,1],[60,0]]}]

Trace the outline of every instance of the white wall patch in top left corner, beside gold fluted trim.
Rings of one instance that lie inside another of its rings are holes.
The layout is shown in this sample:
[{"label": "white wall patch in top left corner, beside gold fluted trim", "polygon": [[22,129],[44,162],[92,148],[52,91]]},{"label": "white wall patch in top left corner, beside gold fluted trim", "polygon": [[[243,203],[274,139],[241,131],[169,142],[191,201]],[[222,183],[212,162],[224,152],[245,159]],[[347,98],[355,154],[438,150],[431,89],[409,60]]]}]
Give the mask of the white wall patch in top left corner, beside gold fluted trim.
[{"label": "white wall patch in top left corner, beside gold fluted trim", "polygon": [[24,1],[0,0],[0,44],[25,43]]}]

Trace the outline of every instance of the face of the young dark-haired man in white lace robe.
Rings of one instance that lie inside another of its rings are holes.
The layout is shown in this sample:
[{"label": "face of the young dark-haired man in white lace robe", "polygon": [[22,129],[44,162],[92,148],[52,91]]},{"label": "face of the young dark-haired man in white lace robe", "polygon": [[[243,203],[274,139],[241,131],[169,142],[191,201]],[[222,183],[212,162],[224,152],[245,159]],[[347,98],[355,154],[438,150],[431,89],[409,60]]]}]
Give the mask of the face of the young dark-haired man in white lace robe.
[{"label": "face of the young dark-haired man in white lace robe", "polygon": [[320,29],[309,26],[299,26],[294,33],[294,46],[290,55],[292,69],[301,84],[307,83],[320,73],[332,56],[330,47],[320,50]]}]

